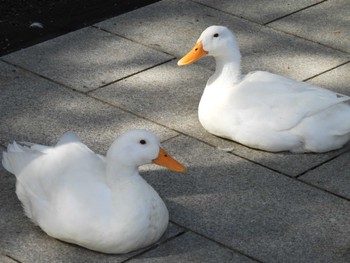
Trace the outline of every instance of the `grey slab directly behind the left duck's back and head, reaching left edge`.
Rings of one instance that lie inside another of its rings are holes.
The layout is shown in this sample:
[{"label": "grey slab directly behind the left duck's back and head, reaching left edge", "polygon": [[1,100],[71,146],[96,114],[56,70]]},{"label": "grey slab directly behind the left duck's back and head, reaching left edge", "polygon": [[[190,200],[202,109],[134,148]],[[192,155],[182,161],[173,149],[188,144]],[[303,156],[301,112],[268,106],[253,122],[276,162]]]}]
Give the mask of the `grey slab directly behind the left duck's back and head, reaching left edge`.
[{"label": "grey slab directly behind the left duck's back and head, reaching left edge", "polygon": [[73,131],[93,150],[104,154],[128,129],[148,129],[161,140],[177,134],[4,62],[0,62],[0,79],[3,145],[13,140],[54,144],[65,132]]}]

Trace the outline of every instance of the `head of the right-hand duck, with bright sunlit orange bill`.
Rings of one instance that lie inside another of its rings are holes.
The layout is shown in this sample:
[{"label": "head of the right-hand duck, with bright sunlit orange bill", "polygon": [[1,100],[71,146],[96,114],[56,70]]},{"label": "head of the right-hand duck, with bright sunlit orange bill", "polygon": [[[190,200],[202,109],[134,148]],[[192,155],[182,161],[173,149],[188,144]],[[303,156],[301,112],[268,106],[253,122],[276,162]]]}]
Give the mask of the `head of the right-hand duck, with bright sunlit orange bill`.
[{"label": "head of the right-hand duck, with bright sunlit orange bill", "polygon": [[224,26],[210,26],[200,35],[193,49],[177,64],[189,65],[204,56],[215,58],[234,57],[240,60],[237,41],[233,33]]}]

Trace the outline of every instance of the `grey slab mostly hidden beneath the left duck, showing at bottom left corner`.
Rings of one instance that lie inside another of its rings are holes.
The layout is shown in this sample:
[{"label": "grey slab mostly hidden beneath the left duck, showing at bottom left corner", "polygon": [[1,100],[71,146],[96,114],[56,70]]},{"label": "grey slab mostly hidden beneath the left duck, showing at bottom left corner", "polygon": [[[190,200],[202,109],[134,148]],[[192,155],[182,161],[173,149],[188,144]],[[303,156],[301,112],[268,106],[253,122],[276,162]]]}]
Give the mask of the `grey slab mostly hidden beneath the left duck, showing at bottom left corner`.
[{"label": "grey slab mostly hidden beneath the left duck, showing at bottom left corner", "polygon": [[[1,155],[4,149],[0,146]],[[24,215],[15,193],[15,182],[15,177],[0,166],[0,248],[4,255],[18,262],[122,262],[145,250],[107,255],[49,237]],[[170,223],[158,244],[183,231]],[[0,255],[3,262],[1,260]]]}]

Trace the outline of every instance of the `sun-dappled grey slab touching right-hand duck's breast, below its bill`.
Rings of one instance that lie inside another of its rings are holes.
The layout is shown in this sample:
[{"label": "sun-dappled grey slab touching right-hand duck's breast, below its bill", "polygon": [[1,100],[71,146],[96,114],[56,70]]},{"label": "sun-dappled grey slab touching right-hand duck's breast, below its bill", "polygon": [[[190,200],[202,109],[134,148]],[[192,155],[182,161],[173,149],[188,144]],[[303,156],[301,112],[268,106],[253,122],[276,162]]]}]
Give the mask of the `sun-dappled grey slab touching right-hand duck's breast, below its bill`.
[{"label": "sun-dappled grey slab touching right-hand duck's breast, below its bill", "polygon": [[171,61],[89,95],[181,132],[196,133],[203,129],[197,108],[211,74],[197,65],[185,72]]}]

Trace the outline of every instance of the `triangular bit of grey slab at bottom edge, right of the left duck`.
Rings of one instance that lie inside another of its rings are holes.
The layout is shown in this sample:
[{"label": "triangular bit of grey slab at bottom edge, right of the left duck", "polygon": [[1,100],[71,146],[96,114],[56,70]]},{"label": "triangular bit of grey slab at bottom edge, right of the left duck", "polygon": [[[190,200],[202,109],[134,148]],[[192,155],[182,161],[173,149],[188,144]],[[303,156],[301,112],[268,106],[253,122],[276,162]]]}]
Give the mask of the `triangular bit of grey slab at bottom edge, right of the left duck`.
[{"label": "triangular bit of grey slab at bottom edge, right of the left duck", "polygon": [[139,257],[130,260],[131,263],[178,263],[178,262],[256,262],[241,254],[221,247],[215,242],[205,239],[192,232],[187,232],[172,239]]}]

